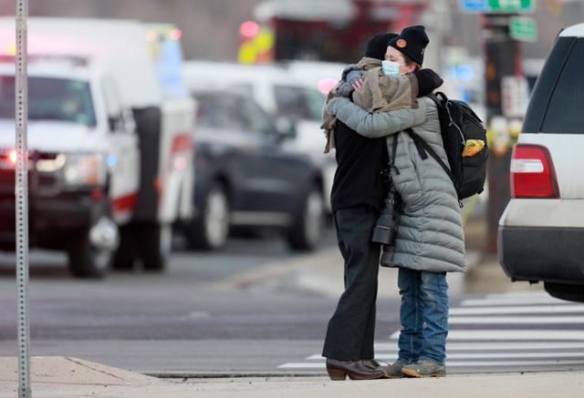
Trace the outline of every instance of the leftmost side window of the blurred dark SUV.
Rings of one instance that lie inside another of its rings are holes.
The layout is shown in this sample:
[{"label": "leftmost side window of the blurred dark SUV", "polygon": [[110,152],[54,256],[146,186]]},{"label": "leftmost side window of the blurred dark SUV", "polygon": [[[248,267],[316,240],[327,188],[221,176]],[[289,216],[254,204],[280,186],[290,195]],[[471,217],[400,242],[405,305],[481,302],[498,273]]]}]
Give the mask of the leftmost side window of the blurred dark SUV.
[{"label": "leftmost side window of the blurred dark SUV", "polygon": [[240,116],[233,97],[197,97],[199,126],[217,130],[245,131],[245,120]]}]

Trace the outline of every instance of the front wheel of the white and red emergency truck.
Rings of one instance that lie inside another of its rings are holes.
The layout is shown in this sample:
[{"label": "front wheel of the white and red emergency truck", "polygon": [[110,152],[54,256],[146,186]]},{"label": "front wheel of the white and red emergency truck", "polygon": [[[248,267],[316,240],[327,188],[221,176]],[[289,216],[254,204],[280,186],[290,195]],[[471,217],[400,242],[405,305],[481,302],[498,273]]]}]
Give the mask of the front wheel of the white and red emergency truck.
[{"label": "front wheel of the white and red emergency truck", "polygon": [[68,247],[68,266],[77,278],[103,278],[111,267],[115,250],[99,249],[89,240],[89,230],[71,237]]}]

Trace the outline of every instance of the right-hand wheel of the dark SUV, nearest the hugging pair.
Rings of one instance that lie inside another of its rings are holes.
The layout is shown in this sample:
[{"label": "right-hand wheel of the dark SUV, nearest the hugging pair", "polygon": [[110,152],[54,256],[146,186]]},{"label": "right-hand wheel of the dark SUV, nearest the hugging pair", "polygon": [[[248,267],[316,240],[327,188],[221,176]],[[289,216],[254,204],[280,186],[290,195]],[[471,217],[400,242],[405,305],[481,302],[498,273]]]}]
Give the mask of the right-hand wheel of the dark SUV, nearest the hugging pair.
[{"label": "right-hand wheel of the dark SUV, nearest the hugging pair", "polygon": [[302,207],[287,231],[288,246],[292,250],[310,251],[318,246],[324,226],[324,199],[322,191],[314,185],[302,199]]}]

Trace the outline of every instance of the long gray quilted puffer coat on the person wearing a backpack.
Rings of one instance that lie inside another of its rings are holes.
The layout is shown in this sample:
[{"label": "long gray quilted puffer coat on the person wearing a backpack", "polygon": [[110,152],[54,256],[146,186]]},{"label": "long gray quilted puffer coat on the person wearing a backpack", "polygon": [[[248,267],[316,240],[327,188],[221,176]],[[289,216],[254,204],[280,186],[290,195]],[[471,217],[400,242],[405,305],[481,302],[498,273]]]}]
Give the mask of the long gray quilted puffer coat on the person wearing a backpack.
[{"label": "long gray quilted puffer coat on the person wearing a backpack", "polygon": [[387,136],[390,156],[393,139],[398,140],[395,166],[399,174],[392,169],[391,178],[404,209],[394,264],[412,270],[464,272],[464,231],[454,185],[435,159],[422,160],[412,138],[401,131],[412,128],[448,164],[438,109],[428,97],[418,102],[417,108],[370,114],[348,98],[335,98],[328,103],[328,112],[362,136]]}]

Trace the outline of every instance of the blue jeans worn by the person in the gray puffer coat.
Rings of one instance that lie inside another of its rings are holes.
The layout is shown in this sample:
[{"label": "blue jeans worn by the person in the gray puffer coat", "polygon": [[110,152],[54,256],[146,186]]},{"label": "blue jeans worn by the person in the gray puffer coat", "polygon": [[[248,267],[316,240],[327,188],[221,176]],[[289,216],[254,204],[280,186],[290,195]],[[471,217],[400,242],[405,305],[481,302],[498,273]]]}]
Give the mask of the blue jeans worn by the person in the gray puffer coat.
[{"label": "blue jeans worn by the person in the gray puffer coat", "polygon": [[400,359],[431,360],[443,364],[448,335],[446,272],[400,268]]}]

